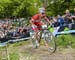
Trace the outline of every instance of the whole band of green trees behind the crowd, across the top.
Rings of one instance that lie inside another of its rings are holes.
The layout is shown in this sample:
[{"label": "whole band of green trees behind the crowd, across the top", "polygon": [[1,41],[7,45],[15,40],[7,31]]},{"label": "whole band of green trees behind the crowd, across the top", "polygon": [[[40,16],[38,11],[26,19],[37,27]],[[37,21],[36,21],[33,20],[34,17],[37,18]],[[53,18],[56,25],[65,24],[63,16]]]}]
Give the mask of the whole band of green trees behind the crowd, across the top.
[{"label": "whole band of green trees behind the crowd, across the top", "polygon": [[45,6],[48,15],[63,14],[65,9],[75,8],[75,0],[0,0],[0,17],[28,17]]}]

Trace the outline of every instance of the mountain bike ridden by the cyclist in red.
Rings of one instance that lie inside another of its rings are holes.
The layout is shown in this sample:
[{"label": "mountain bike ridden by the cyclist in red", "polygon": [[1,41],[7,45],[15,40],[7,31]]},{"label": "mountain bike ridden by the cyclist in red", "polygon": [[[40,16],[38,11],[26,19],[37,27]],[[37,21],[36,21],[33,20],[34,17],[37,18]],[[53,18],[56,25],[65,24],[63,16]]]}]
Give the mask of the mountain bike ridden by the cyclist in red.
[{"label": "mountain bike ridden by the cyclist in red", "polygon": [[[53,36],[53,34],[49,31],[48,28],[49,25],[45,24],[42,25],[41,31],[38,33],[39,39],[40,40],[44,40],[45,45],[48,49],[49,52],[53,53],[56,51],[56,41],[55,41],[55,37]],[[34,37],[34,32],[30,32],[30,39],[32,41],[32,44],[34,45],[34,41],[35,41],[35,37]]]}]

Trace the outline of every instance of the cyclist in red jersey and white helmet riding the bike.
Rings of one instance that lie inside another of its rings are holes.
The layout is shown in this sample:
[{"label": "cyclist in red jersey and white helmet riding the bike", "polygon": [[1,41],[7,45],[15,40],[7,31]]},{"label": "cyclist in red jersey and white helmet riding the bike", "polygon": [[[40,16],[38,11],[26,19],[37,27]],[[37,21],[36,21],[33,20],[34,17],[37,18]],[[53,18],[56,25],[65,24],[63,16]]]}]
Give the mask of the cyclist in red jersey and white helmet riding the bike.
[{"label": "cyclist in red jersey and white helmet riding the bike", "polygon": [[39,8],[39,13],[34,15],[30,20],[30,23],[32,25],[32,30],[35,32],[36,45],[35,46],[33,45],[34,48],[40,46],[38,32],[41,30],[41,26],[44,24],[44,22],[42,22],[42,19],[46,20],[50,24],[50,21],[46,16],[46,11],[44,7]]}]

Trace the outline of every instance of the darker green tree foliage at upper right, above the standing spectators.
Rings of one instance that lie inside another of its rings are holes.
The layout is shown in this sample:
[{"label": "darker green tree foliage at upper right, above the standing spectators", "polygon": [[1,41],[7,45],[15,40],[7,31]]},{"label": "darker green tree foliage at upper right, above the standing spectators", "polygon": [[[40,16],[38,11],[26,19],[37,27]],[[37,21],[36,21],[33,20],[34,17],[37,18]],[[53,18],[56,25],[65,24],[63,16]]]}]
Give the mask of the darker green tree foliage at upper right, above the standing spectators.
[{"label": "darker green tree foliage at upper right, above the standing spectators", "polygon": [[48,0],[47,11],[50,15],[63,15],[66,9],[73,10],[75,0]]}]

